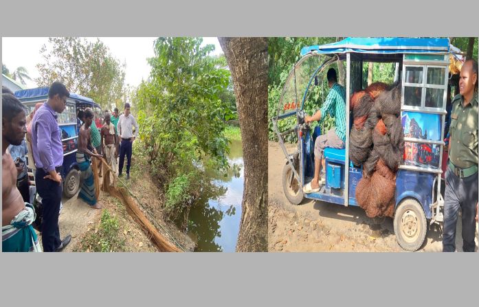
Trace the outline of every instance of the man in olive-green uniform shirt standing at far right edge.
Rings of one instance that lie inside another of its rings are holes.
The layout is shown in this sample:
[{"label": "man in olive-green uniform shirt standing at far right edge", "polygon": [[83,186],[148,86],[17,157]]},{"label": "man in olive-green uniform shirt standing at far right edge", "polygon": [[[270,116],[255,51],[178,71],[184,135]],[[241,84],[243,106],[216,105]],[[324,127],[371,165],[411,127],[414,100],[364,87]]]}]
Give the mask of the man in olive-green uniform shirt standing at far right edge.
[{"label": "man in olive-green uniform shirt standing at far right edge", "polygon": [[463,251],[474,251],[478,204],[478,63],[460,69],[459,93],[452,100],[449,167],[444,195],[443,251],[456,251],[456,223],[462,211]]}]

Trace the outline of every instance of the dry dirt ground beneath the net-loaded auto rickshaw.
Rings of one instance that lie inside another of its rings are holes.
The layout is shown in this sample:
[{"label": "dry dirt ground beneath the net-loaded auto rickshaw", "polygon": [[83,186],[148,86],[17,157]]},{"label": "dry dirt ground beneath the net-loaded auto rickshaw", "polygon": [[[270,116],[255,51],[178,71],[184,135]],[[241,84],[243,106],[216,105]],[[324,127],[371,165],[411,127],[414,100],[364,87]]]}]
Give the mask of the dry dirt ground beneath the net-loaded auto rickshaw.
[{"label": "dry dirt ground beneath the net-loaded auto rickshaw", "polygon": [[[304,199],[300,205],[291,205],[282,191],[284,165],[285,155],[280,146],[270,141],[269,251],[403,251],[394,236],[392,218],[372,219],[360,207],[344,207],[309,199]],[[460,231],[458,223],[458,251],[462,251]],[[426,240],[419,251],[442,251],[441,231],[431,229]]]}]

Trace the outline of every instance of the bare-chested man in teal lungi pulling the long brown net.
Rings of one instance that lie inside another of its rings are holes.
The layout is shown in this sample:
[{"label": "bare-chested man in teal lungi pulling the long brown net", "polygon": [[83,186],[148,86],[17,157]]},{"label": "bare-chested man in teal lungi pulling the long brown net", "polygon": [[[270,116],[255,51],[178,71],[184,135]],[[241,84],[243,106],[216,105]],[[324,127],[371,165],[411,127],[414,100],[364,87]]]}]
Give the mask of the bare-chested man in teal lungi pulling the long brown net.
[{"label": "bare-chested man in teal lungi pulling the long brown net", "polygon": [[78,133],[78,150],[76,152],[76,163],[80,167],[83,174],[83,182],[78,193],[78,197],[82,198],[90,207],[100,209],[101,206],[96,203],[95,181],[90,166],[91,157],[101,158],[96,149],[91,145],[90,126],[93,122],[93,111],[90,108],[85,109],[82,113],[83,125]]}]

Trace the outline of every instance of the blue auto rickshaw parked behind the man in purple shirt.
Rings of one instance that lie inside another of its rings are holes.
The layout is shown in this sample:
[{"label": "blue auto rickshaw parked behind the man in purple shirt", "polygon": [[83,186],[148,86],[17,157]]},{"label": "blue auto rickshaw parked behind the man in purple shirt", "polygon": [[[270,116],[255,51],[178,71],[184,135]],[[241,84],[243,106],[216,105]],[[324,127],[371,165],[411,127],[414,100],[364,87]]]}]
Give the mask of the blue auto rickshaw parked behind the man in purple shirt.
[{"label": "blue auto rickshaw parked behind the man in purple shirt", "polygon": [[[48,98],[48,87],[35,89],[24,89],[16,91],[15,96],[25,105],[27,112],[34,110],[38,102],[46,102]],[[71,93],[67,99],[67,106],[63,113],[58,114],[58,126],[62,133],[63,143],[63,194],[67,198],[73,197],[80,188],[80,168],[76,163],[75,152],[78,150],[78,131],[80,122],[77,119],[77,111],[87,107],[97,111],[102,117],[102,110],[91,98]],[[93,122],[93,124],[95,124]],[[29,161],[30,163],[30,161]]]}]

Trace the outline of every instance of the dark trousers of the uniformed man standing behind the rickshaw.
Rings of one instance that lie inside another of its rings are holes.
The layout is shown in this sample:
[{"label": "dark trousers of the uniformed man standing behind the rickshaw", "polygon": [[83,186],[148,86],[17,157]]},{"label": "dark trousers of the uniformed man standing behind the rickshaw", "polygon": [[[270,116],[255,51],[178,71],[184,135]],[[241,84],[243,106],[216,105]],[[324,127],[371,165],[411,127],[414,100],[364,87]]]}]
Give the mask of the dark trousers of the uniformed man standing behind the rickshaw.
[{"label": "dark trousers of the uniformed man standing behind the rickshaw", "polygon": [[459,208],[463,222],[463,251],[474,251],[476,249],[474,236],[476,236],[478,174],[459,178],[448,167],[445,177],[443,251],[456,251],[456,224]]}]

